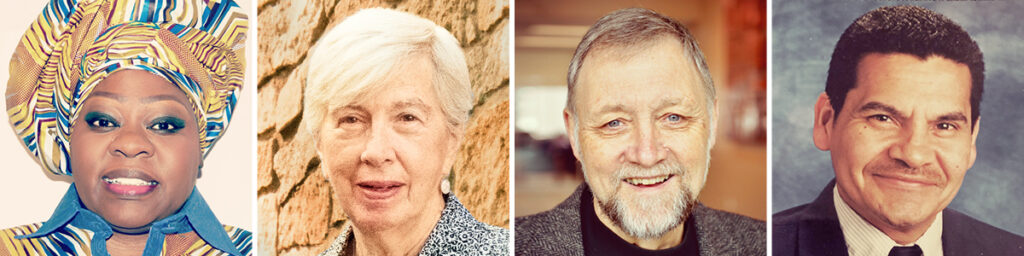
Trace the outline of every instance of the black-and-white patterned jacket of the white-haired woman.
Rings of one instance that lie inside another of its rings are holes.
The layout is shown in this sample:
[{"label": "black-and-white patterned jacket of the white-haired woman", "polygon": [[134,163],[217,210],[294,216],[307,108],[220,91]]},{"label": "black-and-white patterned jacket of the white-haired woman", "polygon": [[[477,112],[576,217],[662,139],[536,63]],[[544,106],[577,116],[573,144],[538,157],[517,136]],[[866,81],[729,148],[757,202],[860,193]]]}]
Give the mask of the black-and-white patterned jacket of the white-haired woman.
[{"label": "black-and-white patterned jacket of the white-haired woman", "polygon": [[[430,231],[420,255],[509,255],[509,230],[476,220],[455,195],[444,197],[441,219]],[[345,223],[341,234],[321,256],[348,255],[351,224]]]}]

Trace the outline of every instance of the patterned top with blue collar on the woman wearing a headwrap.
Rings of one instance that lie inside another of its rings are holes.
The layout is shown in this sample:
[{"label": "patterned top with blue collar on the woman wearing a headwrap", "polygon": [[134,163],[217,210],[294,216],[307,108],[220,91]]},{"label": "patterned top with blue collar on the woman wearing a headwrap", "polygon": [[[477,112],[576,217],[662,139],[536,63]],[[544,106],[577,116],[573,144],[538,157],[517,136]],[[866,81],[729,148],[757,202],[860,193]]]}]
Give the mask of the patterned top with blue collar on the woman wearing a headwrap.
[{"label": "patterned top with blue collar on the woman wearing a headwrap", "polygon": [[[110,255],[113,233],[72,184],[49,220],[0,230],[0,255]],[[252,255],[252,232],[220,224],[193,187],[177,213],[153,222],[142,255]]]}]

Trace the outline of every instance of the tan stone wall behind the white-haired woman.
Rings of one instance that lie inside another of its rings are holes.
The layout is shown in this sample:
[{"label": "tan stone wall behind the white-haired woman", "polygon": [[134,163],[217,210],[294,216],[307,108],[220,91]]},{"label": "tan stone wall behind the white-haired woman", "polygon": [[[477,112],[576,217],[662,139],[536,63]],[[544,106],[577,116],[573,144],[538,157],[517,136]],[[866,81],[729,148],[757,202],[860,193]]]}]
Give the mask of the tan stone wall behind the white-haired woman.
[{"label": "tan stone wall behind the white-haired woman", "polygon": [[453,190],[477,219],[508,227],[508,0],[258,2],[259,255],[315,255],[346,220],[303,127],[305,60],[324,32],[367,7],[416,13],[459,40],[476,102],[452,172]]}]

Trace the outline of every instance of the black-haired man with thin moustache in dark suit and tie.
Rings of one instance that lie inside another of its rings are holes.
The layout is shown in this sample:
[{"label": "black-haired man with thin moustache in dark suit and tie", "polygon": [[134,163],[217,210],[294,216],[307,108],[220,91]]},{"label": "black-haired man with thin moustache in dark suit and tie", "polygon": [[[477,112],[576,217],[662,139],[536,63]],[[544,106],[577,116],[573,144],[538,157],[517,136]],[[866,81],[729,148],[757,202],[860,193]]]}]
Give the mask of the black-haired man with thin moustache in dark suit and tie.
[{"label": "black-haired man with thin moustache in dark suit and tie", "polygon": [[836,179],[773,216],[773,255],[1024,255],[1024,238],[946,209],[977,157],[984,70],[942,14],[888,6],[854,20],[814,106]]}]

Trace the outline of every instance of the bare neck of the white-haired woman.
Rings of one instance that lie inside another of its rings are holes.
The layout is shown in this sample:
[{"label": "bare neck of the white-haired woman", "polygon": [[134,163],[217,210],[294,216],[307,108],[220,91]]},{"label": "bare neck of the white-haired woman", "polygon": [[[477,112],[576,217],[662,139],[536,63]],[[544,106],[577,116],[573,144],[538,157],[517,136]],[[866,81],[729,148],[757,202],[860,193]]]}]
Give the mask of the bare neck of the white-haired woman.
[{"label": "bare neck of the white-haired woman", "polygon": [[406,223],[377,229],[360,231],[353,226],[355,236],[355,255],[417,255],[427,243],[430,232],[440,221],[444,209],[442,197],[436,202],[427,204],[422,214],[414,216]]}]

